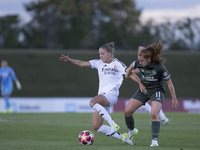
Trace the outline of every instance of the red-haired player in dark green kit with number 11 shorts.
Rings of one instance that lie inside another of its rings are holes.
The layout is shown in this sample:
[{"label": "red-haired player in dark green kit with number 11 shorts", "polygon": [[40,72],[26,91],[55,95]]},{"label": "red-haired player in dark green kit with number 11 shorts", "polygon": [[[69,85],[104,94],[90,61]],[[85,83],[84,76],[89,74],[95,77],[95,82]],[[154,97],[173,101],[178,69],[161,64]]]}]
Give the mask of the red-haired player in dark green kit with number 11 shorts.
[{"label": "red-haired player in dark green kit with number 11 shorts", "polygon": [[132,71],[138,68],[142,75],[141,82],[146,87],[146,89],[142,89],[143,91],[137,90],[129,100],[127,106],[125,107],[125,122],[129,130],[127,135],[130,139],[133,139],[133,136],[135,135],[137,129],[135,129],[134,118],[132,115],[139,107],[145,105],[145,103],[148,100],[150,100],[152,106],[152,141],[150,146],[159,146],[159,112],[162,108],[165,99],[165,82],[167,83],[172,97],[172,107],[178,108],[179,106],[179,103],[176,98],[175,89],[171,80],[171,76],[165,68],[165,66],[163,65],[165,59],[161,57],[162,48],[162,41],[159,40],[156,44],[150,44],[147,48],[139,51],[138,60],[131,63],[125,75],[127,78],[129,78],[129,76],[133,74]]}]

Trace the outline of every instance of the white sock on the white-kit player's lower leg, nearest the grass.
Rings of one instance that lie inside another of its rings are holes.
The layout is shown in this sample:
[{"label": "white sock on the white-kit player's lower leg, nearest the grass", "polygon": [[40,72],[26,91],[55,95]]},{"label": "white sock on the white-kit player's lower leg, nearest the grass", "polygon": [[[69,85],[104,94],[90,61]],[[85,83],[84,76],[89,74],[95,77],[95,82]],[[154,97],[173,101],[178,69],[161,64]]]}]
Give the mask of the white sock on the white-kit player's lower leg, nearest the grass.
[{"label": "white sock on the white-kit player's lower leg, nearest the grass", "polygon": [[[102,125],[98,130],[97,132],[100,132],[100,133],[103,133],[105,135],[109,135],[110,134],[110,127],[107,126],[107,125]],[[116,139],[119,139],[119,140],[122,140],[123,136],[120,134],[120,133],[114,133],[113,135],[109,135],[110,137],[113,137],[113,138],[116,138]]]}]

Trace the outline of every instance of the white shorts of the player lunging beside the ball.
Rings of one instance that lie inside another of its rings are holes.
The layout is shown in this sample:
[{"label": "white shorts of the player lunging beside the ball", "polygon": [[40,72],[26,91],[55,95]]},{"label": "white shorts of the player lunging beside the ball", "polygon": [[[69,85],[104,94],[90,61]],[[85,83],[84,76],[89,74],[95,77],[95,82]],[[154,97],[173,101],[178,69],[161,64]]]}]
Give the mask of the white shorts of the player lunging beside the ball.
[{"label": "white shorts of the player lunging beside the ball", "polygon": [[103,93],[102,95],[104,95],[110,103],[109,107],[104,107],[104,108],[107,110],[108,113],[111,113],[113,106],[117,103],[118,96],[116,96],[113,93]]}]

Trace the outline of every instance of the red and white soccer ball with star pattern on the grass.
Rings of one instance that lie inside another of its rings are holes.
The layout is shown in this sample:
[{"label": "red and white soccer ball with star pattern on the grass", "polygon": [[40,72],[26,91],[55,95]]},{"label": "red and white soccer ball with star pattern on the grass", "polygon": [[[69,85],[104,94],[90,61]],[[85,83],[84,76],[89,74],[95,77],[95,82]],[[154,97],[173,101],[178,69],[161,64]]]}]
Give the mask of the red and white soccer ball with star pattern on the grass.
[{"label": "red and white soccer ball with star pattern on the grass", "polygon": [[79,134],[78,139],[82,145],[92,145],[94,142],[94,134],[89,130],[84,130]]}]

